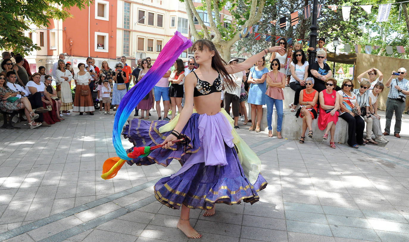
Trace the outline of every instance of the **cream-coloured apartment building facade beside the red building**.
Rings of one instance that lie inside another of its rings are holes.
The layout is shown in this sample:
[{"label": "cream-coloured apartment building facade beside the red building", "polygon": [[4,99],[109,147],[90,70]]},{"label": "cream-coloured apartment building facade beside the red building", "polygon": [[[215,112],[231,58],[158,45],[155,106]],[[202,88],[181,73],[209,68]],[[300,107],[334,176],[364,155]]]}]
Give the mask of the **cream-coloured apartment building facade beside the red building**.
[{"label": "cream-coloured apartment building facade beside the red building", "polygon": [[[118,57],[155,61],[175,31],[189,38],[185,5],[179,0],[118,0],[117,7]],[[187,57],[187,50],[180,55],[184,61]]]}]

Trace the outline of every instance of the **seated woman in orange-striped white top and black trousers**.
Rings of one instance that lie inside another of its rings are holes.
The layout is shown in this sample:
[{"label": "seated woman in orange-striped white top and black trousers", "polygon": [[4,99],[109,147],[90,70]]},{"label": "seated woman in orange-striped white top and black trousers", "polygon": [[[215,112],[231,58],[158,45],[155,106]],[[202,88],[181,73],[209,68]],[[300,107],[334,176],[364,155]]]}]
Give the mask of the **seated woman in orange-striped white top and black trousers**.
[{"label": "seated woman in orange-striped white top and black trousers", "polygon": [[338,91],[339,102],[342,102],[339,117],[348,123],[348,145],[358,149],[359,145],[365,145],[363,142],[365,122],[360,116],[361,108],[357,102],[357,95],[351,92],[353,88],[354,84],[350,79],[345,79],[342,82],[342,90]]}]

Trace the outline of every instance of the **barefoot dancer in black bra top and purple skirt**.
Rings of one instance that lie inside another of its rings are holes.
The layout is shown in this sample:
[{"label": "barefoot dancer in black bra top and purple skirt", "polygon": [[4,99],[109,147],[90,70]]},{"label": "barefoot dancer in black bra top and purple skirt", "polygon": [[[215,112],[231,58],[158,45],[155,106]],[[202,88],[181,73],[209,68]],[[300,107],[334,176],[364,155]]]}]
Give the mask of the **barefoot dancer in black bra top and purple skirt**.
[{"label": "barefoot dancer in black bra top and purple skirt", "polygon": [[[181,113],[171,122],[131,120],[122,134],[135,147],[163,145],[144,158],[127,161],[130,165],[167,166],[173,159],[180,161],[178,172],[155,184],[155,197],[170,208],[182,207],[178,228],[189,238],[200,238],[189,223],[191,208],[213,215],[216,203],[232,205],[243,200],[253,204],[259,200],[257,192],[267,185],[260,174],[260,160],[220,109],[223,85],[233,87],[229,74],[248,69],[268,52],[284,55],[285,50],[270,47],[235,65],[227,65],[211,41],[198,40],[193,50],[200,67],[185,77],[186,102]],[[187,143],[173,144],[181,135],[189,139]]]}]

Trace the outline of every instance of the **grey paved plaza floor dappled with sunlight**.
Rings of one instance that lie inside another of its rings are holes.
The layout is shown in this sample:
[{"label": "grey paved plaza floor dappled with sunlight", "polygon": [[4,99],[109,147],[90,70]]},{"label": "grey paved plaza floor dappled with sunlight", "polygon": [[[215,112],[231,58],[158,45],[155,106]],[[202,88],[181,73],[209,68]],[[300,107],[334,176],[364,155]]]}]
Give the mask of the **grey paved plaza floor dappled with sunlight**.
[{"label": "grey paved plaza floor dappled with sunlight", "polygon": [[[105,181],[103,161],[116,156],[114,116],[64,118],[51,127],[0,129],[0,241],[188,241],[176,228],[180,211],[153,195],[178,162],[125,164]],[[217,204],[211,217],[191,210],[203,235],[197,241],[409,241],[408,118],[402,138],[359,149],[269,138],[239,121],[269,185],[253,205]]]}]

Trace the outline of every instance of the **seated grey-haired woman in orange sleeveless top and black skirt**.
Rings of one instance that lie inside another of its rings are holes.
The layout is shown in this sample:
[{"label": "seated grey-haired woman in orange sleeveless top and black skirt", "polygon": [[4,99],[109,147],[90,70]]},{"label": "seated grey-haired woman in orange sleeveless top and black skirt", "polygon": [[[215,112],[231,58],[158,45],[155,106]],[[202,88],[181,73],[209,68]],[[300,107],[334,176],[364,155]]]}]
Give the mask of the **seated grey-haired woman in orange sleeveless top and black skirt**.
[{"label": "seated grey-haired woman in orange sleeveless top and black skirt", "polygon": [[308,127],[308,137],[312,138],[312,120],[317,118],[318,109],[318,92],[314,87],[315,80],[312,77],[305,79],[306,89],[300,91],[299,104],[300,108],[295,114],[303,119],[303,129],[301,131],[301,138],[299,143],[303,144]]}]

